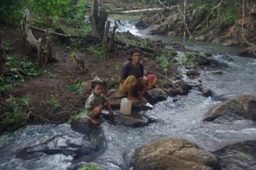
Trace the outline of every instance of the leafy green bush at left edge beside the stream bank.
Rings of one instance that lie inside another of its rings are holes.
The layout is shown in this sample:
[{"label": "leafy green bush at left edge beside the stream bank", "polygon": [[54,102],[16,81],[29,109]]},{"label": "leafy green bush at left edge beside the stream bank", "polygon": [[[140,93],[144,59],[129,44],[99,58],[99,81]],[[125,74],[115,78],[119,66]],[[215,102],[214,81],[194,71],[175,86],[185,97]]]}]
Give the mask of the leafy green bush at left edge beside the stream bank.
[{"label": "leafy green bush at left edge beside the stream bank", "polygon": [[15,98],[10,96],[3,108],[0,109],[0,111],[3,111],[3,119],[0,122],[1,127],[8,132],[12,132],[26,126],[28,113],[24,112],[24,110],[29,109],[29,103],[29,97]]}]

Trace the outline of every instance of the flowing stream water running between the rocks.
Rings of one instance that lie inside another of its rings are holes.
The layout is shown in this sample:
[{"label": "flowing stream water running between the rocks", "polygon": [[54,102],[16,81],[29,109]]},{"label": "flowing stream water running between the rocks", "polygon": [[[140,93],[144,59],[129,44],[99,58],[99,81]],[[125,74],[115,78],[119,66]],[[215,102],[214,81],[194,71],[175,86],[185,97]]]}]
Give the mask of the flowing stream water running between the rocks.
[{"label": "flowing stream water running between the rocks", "polygon": [[[134,31],[143,38],[151,38],[166,42],[182,42],[177,37],[145,36]],[[182,42],[183,43],[183,42]],[[15,133],[9,133],[0,139],[0,169],[66,169],[79,162],[98,164],[104,169],[131,169],[132,156],[139,147],[155,139],[182,138],[195,142],[205,150],[217,150],[226,144],[242,140],[256,139],[256,123],[248,120],[237,120],[218,124],[202,122],[204,114],[213,106],[242,94],[256,95],[256,59],[237,56],[236,48],[228,48],[207,42],[184,42],[185,48],[208,52],[227,66],[201,71],[201,76],[189,78],[186,82],[193,84],[202,81],[212,89],[212,97],[204,97],[197,89],[192,89],[188,95],[169,97],[166,101],[154,105],[151,111],[141,111],[142,115],[154,116],[156,122],[146,127],[125,127],[103,122],[101,127],[88,133],[74,132],[70,125],[45,125],[22,128]],[[183,52],[178,52],[178,55]],[[229,54],[226,59],[224,54]],[[181,69],[184,72],[184,69]],[[224,74],[213,74],[222,71]],[[176,101],[177,100],[177,101]],[[90,141],[104,141],[104,151],[96,156],[82,156],[73,160],[72,156],[61,154],[44,156],[32,161],[22,161],[15,158],[15,152],[26,146],[40,144],[57,135],[66,134],[84,136]]]}]

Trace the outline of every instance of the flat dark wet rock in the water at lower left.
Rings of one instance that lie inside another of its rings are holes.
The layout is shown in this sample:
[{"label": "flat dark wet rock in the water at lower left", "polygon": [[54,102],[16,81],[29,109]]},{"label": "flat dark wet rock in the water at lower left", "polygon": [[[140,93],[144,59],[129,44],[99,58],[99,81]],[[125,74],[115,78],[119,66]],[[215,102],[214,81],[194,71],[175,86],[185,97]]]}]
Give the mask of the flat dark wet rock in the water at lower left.
[{"label": "flat dark wet rock in the water at lower left", "polygon": [[96,150],[96,144],[85,140],[83,137],[57,135],[42,144],[28,146],[18,151],[16,157],[31,160],[45,154],[64,154],[78,158],[88,155],[94,150]]}]

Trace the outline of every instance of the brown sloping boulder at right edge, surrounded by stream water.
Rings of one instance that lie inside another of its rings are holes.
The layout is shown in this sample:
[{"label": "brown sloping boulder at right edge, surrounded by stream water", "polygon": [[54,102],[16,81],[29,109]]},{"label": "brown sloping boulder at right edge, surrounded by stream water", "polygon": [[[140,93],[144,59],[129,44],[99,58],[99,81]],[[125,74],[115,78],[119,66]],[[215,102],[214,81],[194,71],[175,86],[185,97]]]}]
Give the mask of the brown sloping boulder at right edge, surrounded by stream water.
[{"label": "brown sloping boulder at right edge, surrounded by stream water", "polygon": [[216,118],[234,121],[234,119],[250,119],[256,121],[256,97],[252,95],[238,96],[215,105],[205,115],[204,121]]}]

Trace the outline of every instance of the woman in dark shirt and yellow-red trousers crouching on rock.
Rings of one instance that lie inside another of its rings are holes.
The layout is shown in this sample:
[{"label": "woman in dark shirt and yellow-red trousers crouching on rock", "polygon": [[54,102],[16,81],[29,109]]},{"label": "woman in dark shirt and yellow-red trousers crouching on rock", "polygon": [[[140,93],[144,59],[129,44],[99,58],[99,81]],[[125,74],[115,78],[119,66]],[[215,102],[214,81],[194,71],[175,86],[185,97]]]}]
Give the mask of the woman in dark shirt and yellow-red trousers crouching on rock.
[{"label": "woman in dark shirt and yellow-red trousers crouching on rock", "polygon": [[[144,77],[144,67],[140,63],[142,55],[143,52],[139,48],[132,49],[129,61],[125,62],[119,73],[119,90],[123,94],[128,94],[128,99],[133,104],[140,101],[147,103],[144,94],[154,86],[157,80],[155,75]],[[137,98],[135,95],[137,95]]]}]

